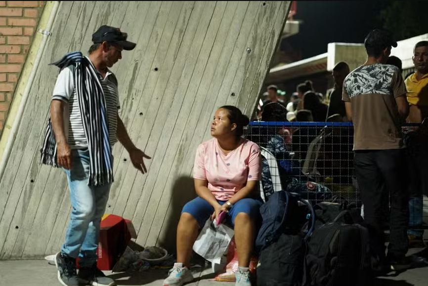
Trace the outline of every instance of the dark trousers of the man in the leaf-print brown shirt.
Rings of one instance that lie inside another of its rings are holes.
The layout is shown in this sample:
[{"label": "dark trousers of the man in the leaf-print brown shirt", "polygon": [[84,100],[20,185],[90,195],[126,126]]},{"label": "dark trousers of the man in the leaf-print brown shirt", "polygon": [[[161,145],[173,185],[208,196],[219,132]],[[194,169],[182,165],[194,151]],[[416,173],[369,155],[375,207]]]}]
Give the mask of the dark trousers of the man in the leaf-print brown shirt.
[{"label": "dark trousers of the man in the leaf-print brown shirt", "polygon": [[381,261],[385,259],[383,200],[390,198],[388,258],[400,259],[408,250],[409,194],[406,187],[404,150],[355,151],[355,171],[364,204],[364,220],[370,244]]}]

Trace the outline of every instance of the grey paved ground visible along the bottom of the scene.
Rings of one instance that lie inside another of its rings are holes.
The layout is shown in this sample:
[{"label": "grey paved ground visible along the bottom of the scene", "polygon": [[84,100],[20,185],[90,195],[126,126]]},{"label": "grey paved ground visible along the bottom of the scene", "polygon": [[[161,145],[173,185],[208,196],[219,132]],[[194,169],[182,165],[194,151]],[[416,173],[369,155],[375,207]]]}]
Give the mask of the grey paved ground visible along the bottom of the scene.
[{"label": "grey paved ground visible along the bottom of the scene", "polygon": [[[409,255],[422,255],[428,258],[428,249],[413,249]],[[422,265],[421,265],[422,266]],[[377,286],[427,286],[428,265],[409,269],[397,276],[381,277],[377,279]],[[146,272],[128,274],[111,273],[106,275],[115,279],[118,286],[161,286],[168,270],[150,270]],[[215,282],[211,269],[194,271],[195,282],[189,286],[233,286],[233,283]],[[56,278],[55,266],[49,265],[46,260],[12,260],[0,261],[0,286],[60,286]]]}]

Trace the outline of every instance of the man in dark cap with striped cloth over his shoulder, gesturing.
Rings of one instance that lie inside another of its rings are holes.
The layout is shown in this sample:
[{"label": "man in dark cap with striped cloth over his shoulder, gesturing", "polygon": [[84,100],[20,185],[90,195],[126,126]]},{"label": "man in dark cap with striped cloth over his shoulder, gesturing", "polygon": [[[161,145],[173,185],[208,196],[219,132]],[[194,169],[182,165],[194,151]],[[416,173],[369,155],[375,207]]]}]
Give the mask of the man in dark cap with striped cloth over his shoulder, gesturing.
[{"label": "man in dark cap with striped cloth over his shoulder, gesturing", "polygon": [[113,182],[113,145],[122,143],[134,167],[147,172],[143,158],[150,157],[135,147],[119,117],[118,82],[109,70],[123,50],[135,47],[127,36],[118,28],[101,26],[92,35],[88,57],[74,52],[53,63],[61,72],[53,90],[42,162],[63,168],[70,188],[72,213],[55,257],[64,286],[115,285],[96,267],[100,222]]}]

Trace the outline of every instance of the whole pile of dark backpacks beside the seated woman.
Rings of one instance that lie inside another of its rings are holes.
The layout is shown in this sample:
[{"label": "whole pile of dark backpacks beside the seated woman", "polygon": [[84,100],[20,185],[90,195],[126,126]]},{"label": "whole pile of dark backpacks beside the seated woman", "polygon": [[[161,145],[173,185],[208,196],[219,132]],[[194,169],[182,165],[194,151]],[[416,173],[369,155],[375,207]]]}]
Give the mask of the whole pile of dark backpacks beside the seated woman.
[{"label": "whole pile of dark backpacks beside the seated woman", "polygon": [[369,235],[356,206],[312,207],[297,193],[278,191],[260,213],[258,286],[368,285]]}]

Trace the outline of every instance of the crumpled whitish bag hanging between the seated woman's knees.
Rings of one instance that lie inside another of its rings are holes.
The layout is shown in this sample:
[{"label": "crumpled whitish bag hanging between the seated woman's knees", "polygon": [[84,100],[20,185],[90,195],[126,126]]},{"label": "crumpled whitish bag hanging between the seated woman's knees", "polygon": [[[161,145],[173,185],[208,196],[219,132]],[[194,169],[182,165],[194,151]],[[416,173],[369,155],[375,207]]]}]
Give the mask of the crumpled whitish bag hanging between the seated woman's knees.
[{"label": "crumpled whitish bag hanging between the seated woman's knees", "polygon": [[221,263],[221,257],[227,251],[234,231],[230,227],[219,224],[216,225],[215,219],[208,219],[199,233],[193,250],[211,262],[213,270],[215,264]]}]

